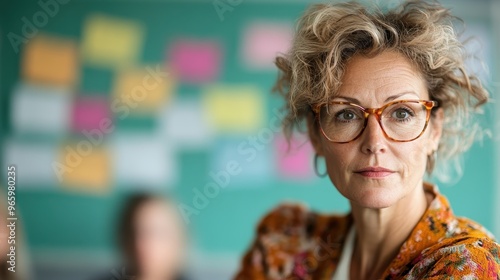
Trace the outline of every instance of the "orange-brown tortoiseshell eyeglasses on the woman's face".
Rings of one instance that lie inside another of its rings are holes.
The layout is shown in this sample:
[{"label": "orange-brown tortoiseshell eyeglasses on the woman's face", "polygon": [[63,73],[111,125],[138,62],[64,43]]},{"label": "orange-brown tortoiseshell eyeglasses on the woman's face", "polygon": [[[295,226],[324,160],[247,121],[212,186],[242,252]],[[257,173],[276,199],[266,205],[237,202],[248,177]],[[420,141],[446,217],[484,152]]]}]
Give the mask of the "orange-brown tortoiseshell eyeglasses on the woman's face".
[{"label": "orange-brown tortoiseshell eyeglasses on the woman's face", "polygon": [[396,142],[410,142],[419,138],[427,128],[436,101],[397,100],[380,108],[364,108],[358,104],[333,101],[317,104],[316,114],[321,132],[334,143],[356,140],[366,128],[368,117],[373,114],[385,137]]}]

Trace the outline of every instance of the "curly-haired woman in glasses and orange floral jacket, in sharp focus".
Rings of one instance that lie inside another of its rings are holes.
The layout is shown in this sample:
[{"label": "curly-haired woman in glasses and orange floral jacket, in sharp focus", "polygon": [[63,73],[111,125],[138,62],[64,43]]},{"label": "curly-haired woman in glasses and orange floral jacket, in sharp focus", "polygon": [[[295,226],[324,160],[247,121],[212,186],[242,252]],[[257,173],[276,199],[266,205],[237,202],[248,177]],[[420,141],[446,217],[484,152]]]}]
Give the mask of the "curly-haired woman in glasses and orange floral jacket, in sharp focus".
[{"label": "curly-haired woman in glasses and orange floral jacket, in sharp focus", "polygon": [[[276,64],[284,129],[307,124],[346,216],[281,205],[266,215],[236,279],[500,279],[500,246],[424,182],[437,155],[470,147],[487,102],[439,4],[381,12],[312,6]],[[315,168],[318,173],[317,164]]]}]

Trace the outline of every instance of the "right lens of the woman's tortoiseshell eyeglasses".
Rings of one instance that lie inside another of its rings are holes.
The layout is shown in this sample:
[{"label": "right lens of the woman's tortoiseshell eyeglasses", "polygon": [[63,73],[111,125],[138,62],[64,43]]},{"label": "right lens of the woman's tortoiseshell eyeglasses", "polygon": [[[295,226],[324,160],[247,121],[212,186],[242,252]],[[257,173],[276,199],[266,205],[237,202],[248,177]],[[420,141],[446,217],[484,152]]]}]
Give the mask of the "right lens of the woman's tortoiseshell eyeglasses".
[{"label": "right lens of the woman's tortoiseshell eyeglasses", "polygon": [[418,102],[397,103],[386,107],[381,115],[387,136],[401,141],[414,139],[423,131],[427,109]]}]

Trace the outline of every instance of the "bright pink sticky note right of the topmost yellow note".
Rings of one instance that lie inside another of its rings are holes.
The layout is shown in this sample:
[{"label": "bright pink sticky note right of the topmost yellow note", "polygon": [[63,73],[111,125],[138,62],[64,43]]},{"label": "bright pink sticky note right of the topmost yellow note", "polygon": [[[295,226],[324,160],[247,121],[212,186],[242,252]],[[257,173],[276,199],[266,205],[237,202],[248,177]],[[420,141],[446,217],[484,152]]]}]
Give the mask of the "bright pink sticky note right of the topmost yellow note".
[{"label": "bright pink sticky note right of the topmost yellow note", "polygon": [[219,75],[221,49],[212,41],[181,40],[170,48],[170,65],[183,82],[206,83]]}]

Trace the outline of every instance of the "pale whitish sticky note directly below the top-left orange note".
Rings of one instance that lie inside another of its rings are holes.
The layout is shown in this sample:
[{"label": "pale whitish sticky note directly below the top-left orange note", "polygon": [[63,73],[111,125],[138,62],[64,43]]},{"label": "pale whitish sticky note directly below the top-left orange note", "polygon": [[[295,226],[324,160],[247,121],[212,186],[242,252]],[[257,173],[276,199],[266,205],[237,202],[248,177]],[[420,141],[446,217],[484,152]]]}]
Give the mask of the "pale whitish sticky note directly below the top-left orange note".
[{"label": "pale whitish sticky note directly below the top-left orange note", "polygon": [[11,102],[18,133],[63,134],[69,129],[72,96],[66,89],[22,83],[15,87]]}]

